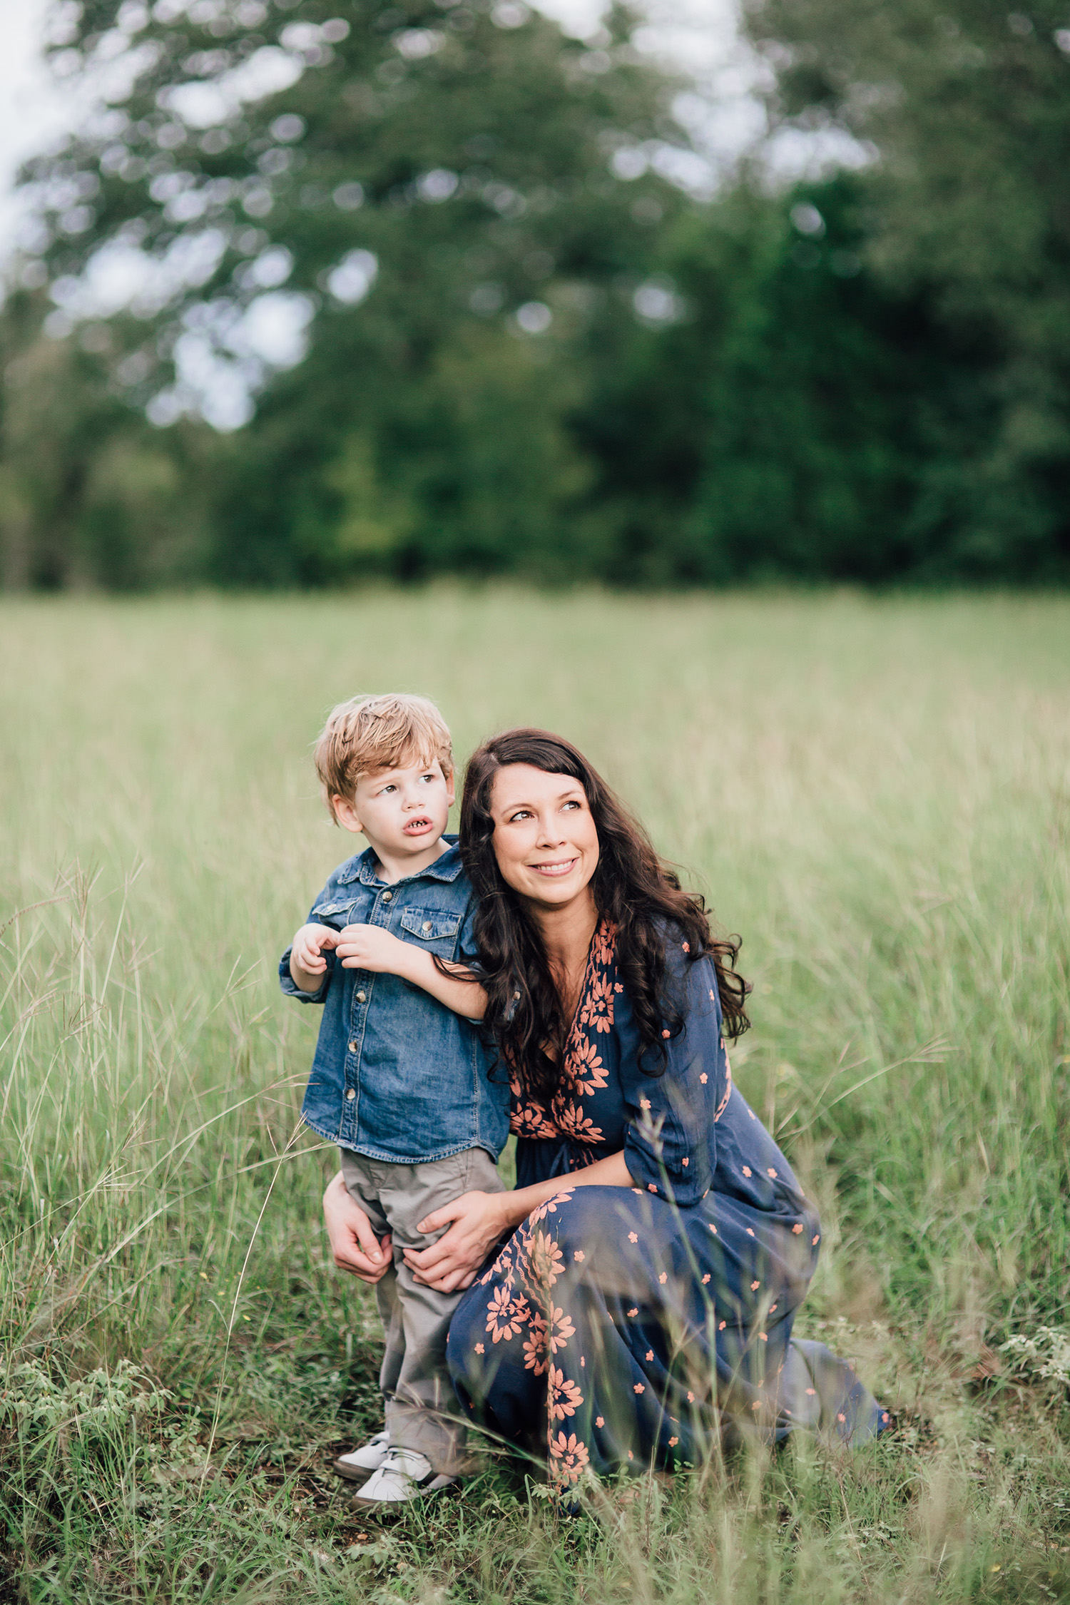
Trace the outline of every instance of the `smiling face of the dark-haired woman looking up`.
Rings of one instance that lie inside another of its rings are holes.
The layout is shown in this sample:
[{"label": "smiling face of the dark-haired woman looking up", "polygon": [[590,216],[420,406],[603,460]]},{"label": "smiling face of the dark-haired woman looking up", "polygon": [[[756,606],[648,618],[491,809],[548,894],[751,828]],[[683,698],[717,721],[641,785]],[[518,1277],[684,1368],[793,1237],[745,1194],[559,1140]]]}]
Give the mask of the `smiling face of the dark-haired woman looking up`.
[{"label": "smiling face of the dark-haired woman looking up", "polygon": [[515,892],[561,908],[587,891],[598,831],[579,780],[507,764],[494,777],[491,817],[497,867]]}]

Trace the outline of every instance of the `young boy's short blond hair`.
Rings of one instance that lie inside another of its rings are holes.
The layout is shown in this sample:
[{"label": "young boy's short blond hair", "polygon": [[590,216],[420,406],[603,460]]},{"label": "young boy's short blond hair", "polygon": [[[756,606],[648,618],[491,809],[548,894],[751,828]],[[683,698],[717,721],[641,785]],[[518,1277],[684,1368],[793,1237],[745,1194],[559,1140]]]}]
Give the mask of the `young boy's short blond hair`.
[{"label": "young boy's short blond hair", "polygon": [[327,716],[313,759],[332,819],[332,798],[351,801],[356,782],[375,769],[438,759],[446,778],[454,772],[452,742],[438,708],[428,697],[404,693],[338,703]]}]

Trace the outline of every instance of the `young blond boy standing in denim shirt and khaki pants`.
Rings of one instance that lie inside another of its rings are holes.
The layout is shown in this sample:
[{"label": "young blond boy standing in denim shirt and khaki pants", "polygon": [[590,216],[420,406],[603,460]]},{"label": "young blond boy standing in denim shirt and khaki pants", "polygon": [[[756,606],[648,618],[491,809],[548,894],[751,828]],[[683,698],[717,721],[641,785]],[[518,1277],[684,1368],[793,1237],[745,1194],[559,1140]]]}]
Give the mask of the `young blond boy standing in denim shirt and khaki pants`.
[{"label": "young blond boy standing in denim shirt and khaki pants", "polygon": [[472,888],[456,836],[449,730],[424,697],[340,703],[316,743],[324,801],[367,849],[342,863],[279,961],[282,990],[322,1003],[303,1115],[342,1149],[345,1184],[393,1263],[375,1286],[387,1331],[380,1387],[385,1430],[342,1456],[367,1477],[366,1504],[398,1504],[454,1481],[465,1425],[446,1369],[446,1334],[460,1292],[414,1281],[403,1254],[440,1233],[417,1221],[473,1188],[501,1193],[507,1088],[488,1079],[478,984],[443,974],[472,950]]}]

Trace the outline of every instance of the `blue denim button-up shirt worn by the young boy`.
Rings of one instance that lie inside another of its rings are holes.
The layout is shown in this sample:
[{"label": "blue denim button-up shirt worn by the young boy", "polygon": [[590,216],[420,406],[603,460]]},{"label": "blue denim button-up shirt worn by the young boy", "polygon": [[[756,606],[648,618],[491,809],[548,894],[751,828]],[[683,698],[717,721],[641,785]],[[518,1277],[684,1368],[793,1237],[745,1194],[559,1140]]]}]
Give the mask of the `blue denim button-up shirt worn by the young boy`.
[{"label": "blue denim button-up shirt worn by the young boy", "polygon": [[[419,875],[380,881],[369,847],[334,872],[308,921],[342,929],[379,924],[428,953],[472,952],[473,897],[454,846]],[[419,1164],[465,1148],[492,1159],[509,1136],[509,1087],[488,1079],[476,1030],[399,976],[343,969],[324,953],[318,992],[298,992],[290,949],[279,960],[282,990],[322,1003],[324,1018],[302,1114],[313,1132],[371,1159]]]}]

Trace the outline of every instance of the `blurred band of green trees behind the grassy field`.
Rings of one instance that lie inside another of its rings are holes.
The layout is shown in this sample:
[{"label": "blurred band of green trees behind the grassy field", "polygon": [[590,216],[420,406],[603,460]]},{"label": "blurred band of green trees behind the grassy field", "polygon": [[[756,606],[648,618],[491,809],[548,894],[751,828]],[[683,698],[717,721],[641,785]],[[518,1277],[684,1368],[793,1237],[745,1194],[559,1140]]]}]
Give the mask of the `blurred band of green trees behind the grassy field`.
[{"label": "blurred band of green trees behind the grassy field", "polygon": [[[773,127],[879,160],[709,202],[655,170],[679,83],[619,8],[587,42],[520,0],[56,22],[112,104],[24,175],[5,584],[1070,575],[1054,13],[767,0]],[[191,416],[205,374],[250,422]]]}]

